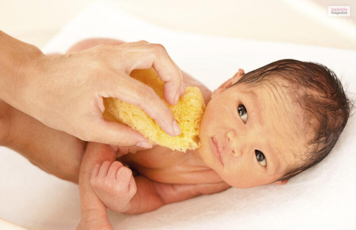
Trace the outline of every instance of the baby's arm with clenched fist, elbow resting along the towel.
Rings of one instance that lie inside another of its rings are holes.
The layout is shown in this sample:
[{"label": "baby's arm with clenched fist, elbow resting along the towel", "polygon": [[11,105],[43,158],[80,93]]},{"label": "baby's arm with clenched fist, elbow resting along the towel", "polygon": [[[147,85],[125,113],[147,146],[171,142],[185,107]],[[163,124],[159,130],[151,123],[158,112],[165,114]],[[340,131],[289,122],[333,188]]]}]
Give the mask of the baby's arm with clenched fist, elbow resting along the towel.
[{"label": "baby's arm with clenched fist, elbow resting along the towel", "polygon": [[96,165],[91,173],[90,184],[109,209],[126,214],[152,211],[164,204],[220,192],[230,187],[225,182],[164,184],[143,176],[133,178],[131,170],[118,161]]}]

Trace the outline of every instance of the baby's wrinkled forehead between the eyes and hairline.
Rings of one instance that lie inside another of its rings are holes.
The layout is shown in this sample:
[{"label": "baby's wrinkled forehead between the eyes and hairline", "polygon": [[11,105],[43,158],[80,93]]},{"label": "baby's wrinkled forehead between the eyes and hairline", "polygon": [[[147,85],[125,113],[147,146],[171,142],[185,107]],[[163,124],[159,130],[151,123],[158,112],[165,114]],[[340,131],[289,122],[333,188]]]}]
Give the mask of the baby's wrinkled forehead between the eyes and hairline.
[{"label": "baby's wrinkled forehead between the eyes and hairline", "polygon": [[290,152],[304,149],[307,142],[304,109],[295,102],[288,86],[261,84],[248,88],[243,94],[251,101],[251,112],[264,126],[266,138],[275,139],[272,141]]}]

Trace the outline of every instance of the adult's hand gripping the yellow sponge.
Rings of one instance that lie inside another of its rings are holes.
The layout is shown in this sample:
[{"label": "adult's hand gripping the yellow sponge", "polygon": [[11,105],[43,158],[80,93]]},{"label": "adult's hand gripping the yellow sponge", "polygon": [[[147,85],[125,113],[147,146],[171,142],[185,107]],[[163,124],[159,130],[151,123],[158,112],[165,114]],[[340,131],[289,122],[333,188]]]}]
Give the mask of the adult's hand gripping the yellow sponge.
[{"label": "adult's hand gripping the yellow sponge", "polygon": [[17,58],[21,61],[16,62],[20,63],[16,74],[8,74],[1,85],[8,89],[1,96],[45,125],[84,141],[151,147],[137,131],[103,119],[102,98],[116,97],[141,107],[170,136],[181,133],[172,112],[153,89],[129,76],[133,69],[153,66],[165,82],[164,100],[176,104],[185,93],[182,73],[162,45],[145,41],[99,45],[55,57],[34,52],[34,47],[27,50],[27,56]]}]

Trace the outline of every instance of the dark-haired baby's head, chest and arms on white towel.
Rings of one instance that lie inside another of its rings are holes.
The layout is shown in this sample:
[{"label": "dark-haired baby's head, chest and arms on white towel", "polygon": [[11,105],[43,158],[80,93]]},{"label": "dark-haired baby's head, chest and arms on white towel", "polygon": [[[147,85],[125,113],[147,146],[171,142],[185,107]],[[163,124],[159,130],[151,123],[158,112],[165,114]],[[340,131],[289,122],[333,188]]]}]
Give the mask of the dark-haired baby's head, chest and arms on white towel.
[{"label": "dark-haired baby's head, chest and arms on white towel", "polygon": [[246,74],[239,69],[214,92],[183,77],[207,104],[201,147],[136,152],[89,143],[79,175],[78,228],[111,228],[106,207],[142,213],[231,186],[285,184],[328,155],[349,116],[340,81],[316,63],[284,59]]}]

